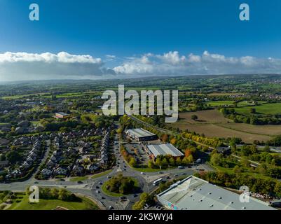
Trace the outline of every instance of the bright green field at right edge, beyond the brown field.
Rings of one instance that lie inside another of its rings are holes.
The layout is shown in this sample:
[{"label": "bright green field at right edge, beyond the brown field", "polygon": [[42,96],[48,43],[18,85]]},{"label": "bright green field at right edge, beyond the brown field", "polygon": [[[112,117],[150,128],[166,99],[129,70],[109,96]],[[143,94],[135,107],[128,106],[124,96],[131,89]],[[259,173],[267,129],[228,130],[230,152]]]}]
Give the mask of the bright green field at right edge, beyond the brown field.
[{"label": "bright green field at right edge, beyond the brown field", "polygon": [[250,109],[254,108],[256,109],[256,113],[263,113],[263,114],[281,114],[281,103],[276,104],[262,104],[260,106],[244,106],[235,108],[235,111],[237,111],[240,114],[249,114]]}]

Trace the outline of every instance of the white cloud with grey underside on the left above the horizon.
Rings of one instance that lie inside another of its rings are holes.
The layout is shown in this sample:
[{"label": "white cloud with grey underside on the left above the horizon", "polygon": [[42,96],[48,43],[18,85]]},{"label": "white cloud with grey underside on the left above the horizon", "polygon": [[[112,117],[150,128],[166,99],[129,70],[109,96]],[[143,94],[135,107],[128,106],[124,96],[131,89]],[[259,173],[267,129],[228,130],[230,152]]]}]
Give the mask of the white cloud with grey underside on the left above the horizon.
[{"label": "white cloud with grey underside on the left above the horizon", "polygon": [[89,78],[114,74],[103,66],[102,59],[91,55],[4,52],[0,54],[0,80]]}]

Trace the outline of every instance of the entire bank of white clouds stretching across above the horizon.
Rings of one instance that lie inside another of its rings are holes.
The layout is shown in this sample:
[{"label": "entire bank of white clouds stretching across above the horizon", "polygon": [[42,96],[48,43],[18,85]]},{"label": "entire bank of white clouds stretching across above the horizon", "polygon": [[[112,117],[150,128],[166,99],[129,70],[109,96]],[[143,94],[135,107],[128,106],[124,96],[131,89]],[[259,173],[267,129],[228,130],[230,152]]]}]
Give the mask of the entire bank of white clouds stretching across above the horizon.
[{"label": "entire bank of white clouds stretching across above the horizon", "polygon": [[4,52],[0,54],[0,80],[281,73],[281,59],[226,57],[207,51],[202,55],[180,55],[178,51],[162,55],[147,53],[139,57],[118,58],[117,65],[108,68],[107,62],[117,62],[116,58],[105,55],[101,59],[68,52]]}]

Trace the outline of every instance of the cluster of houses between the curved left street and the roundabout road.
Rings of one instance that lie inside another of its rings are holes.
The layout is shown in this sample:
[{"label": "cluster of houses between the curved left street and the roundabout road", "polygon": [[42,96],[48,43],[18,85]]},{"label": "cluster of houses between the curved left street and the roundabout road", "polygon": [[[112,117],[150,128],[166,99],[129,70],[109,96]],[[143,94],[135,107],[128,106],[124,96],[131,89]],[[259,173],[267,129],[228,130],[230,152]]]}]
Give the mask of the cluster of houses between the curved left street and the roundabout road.
[{"label": "cluster of houses between the curved left street and the roundabout road", "polygon": [[[104,135],[105,133],[105,135]],[[54,176],[81,176],[91,174],[104,167],[108,161],[107,148],[109,146],[109,131],[104,128],[80,130],[67,133],[51,134],[55,151],[41,170],[41,177],[49,179]],[[83,140],[83,137],[104,135],[100,145],[100,155],[92,153],[92,143]],[[68,160],[67,163],[63,162]],[[72,162],[69,162],[72,160]],[[86,163],[85,163],[86,161]]]}]

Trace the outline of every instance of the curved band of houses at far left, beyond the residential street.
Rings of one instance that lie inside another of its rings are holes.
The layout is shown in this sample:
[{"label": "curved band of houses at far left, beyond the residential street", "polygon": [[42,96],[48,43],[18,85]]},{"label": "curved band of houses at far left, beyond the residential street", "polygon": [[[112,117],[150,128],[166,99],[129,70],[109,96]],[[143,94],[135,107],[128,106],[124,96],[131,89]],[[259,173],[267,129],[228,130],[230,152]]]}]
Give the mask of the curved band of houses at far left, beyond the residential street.
[{"label": "curved band of houses at far left, beyond the residential street", "polygon": [[29,146],[32,145],[32,149],[25,155],[25,161],[22,162],[22,165],[18,169],[9,170],[6,175],[6,179],[17,179],[22,176],[25,176],[30,168],[41,159],[42,144],[41,137],[20,137],[13,141],[13,146]]}]

